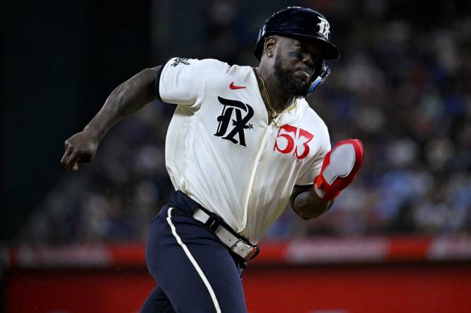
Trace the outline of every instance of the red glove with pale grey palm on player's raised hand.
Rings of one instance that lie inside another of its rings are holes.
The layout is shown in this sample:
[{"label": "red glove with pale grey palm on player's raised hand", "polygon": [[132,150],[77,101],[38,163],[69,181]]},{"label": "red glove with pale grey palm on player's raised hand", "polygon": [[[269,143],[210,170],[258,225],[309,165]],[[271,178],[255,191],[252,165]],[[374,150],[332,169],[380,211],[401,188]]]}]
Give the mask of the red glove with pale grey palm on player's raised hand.
[{"label": "red glove with pale grey palm on player's raised hand", "polygon": [[332,200],[354,181],[363,162],[363,145],[359,139],[339,141],[327,154],[314,193],[322,200]]}]

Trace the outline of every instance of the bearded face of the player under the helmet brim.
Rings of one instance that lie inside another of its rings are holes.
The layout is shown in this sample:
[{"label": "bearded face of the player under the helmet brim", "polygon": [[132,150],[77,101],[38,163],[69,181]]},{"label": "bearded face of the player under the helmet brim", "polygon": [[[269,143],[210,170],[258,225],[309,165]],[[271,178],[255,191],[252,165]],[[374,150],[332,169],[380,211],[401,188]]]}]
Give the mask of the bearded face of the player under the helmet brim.
[{"label": "bearded face of the player under the helmet brim", "polygon": [[292,96],[306,95],[315,68],[321,61],[318,45],[307,40],[288,37],[277,39],[274,74],[281,88]]}]

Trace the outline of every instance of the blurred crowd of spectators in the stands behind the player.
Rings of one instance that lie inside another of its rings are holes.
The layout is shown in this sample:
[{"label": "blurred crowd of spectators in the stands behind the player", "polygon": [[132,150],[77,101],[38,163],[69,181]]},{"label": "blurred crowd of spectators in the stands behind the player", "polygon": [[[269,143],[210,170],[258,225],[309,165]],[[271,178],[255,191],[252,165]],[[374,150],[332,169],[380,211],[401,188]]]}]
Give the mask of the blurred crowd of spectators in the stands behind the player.
[{"label": "blurred crowd of spectators in the stands behind the player", "polygon": [[[144,67],[173,56],[256,66],[257,30],[288,5],[323,13],[342,53],[342,59],[330,62],[330,77],[308,102],[325,120],[332,143],[363,141],[364,165],[327,214],[306,221],[287,208],[265,240],[471,233],[471,14],[466,1],[413,6],[392,0],[176,2],[149,6],[151,17],[144,25],[150,29],[151,57]],[[127,78],[113,77],[113,83]],[[173,191],[164,143],[174,110],[156,100],[115,126],[93,165],[64,170],[54,179],[13,241],[145,240],[150,220]],[[64,139],[79,130],[68,129]]]}]

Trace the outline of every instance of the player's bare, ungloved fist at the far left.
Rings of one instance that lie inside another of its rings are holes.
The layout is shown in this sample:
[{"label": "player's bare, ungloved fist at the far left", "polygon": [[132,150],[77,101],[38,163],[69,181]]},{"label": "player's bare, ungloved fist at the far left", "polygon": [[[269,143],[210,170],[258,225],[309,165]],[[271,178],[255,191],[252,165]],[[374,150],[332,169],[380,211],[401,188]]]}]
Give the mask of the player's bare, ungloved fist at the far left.
[{"label": "player's bare, ungloved fist at the far left", "polygon": [[65,153],[61,163],[67,170],[79,170],[79,163],[91,163],[98,148],[98,139],[88,131],[71,136],[64,143]]}]

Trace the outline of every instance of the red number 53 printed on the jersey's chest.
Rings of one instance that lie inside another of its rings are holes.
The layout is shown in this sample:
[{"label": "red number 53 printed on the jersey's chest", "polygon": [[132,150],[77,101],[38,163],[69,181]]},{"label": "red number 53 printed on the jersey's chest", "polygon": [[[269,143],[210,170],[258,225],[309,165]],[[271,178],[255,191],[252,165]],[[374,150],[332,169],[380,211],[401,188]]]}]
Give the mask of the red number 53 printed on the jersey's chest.
[{"label": "red number 53 printed on the jersey's chest", "polygon": [[279,153],[293,153],[301,160],[309,154],[308,143],[313,138],[314,135],[309,131],[286,124],[279,128],[273,150]]}]

